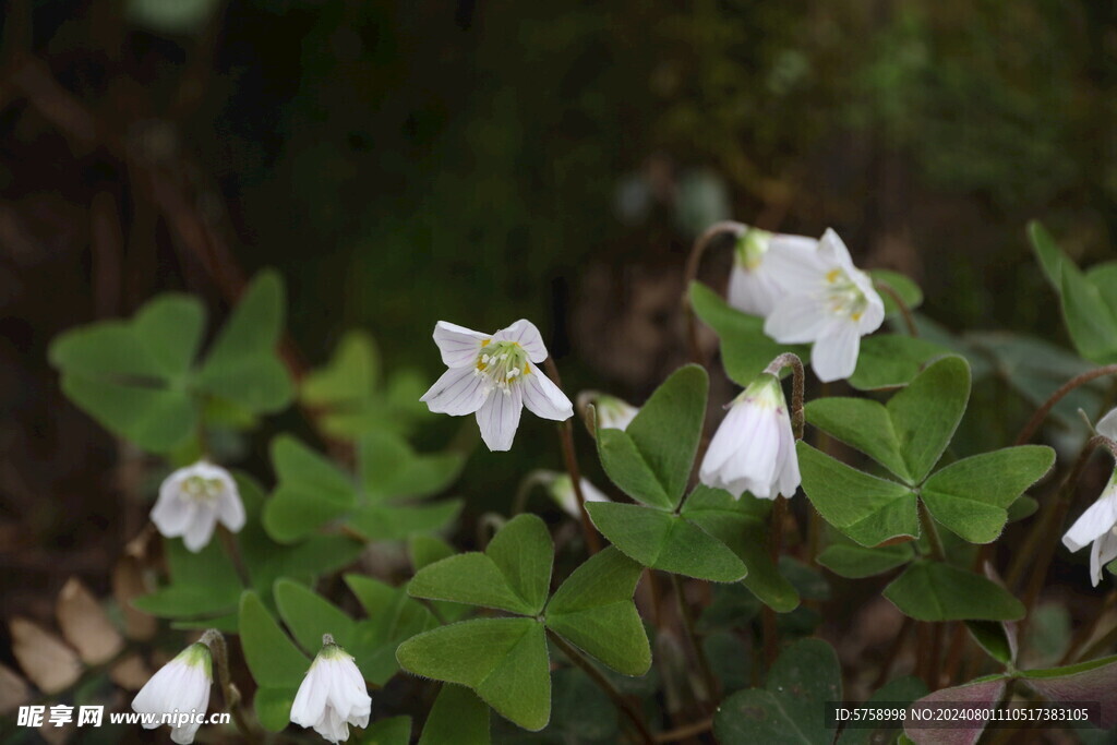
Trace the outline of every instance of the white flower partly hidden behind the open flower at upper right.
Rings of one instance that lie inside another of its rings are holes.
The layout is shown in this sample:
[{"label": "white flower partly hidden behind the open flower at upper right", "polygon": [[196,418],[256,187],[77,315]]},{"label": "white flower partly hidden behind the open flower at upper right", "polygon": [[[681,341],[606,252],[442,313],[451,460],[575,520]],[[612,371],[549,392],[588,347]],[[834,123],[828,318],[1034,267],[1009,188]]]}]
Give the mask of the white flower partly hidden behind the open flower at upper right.
[{"label": "white flower partly hidden behind the open flower at upper right", "polygon": [[811,261],[818,245],[805,236],[745,228],[733,252],[729,305],[754,316],[767,316],[794,285],[799,267]]}]

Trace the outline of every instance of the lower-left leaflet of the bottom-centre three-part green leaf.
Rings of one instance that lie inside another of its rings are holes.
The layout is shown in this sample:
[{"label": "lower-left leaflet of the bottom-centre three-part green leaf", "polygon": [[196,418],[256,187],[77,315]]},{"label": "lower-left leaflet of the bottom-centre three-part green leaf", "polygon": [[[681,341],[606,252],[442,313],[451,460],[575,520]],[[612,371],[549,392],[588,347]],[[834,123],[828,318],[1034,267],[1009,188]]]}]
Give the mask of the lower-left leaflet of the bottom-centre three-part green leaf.
[{"label": "lower-left leaflet of the bottom-centre three-part green leaf", "polygon": [[395,651],[416,675],[471,688],[502,716],[540,730],[551,718],[551,672],[543,624],[479,619],[412,637]]}]

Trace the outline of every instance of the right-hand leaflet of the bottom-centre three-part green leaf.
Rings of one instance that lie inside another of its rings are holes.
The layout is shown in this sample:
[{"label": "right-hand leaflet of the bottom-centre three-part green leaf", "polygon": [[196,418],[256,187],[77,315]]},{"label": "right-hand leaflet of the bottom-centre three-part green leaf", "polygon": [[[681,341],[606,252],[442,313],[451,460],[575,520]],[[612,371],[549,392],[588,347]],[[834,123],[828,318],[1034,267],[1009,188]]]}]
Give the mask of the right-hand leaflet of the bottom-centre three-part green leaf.
[{"label": "right-hand leaflet of the bottom-centre three-part green leaf", "polygon": [[643,675],[651,648],[632,602],[642,572],[613,546],[591,556],[547,603],[547,627],[618,672]]}]

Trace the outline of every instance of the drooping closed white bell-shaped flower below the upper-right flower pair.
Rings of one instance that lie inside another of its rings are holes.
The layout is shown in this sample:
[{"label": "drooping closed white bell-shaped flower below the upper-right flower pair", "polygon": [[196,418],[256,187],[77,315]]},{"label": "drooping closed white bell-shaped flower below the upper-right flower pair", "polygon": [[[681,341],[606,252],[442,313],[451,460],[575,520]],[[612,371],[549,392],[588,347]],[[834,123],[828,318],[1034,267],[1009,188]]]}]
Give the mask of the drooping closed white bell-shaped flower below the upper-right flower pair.
[{"label": "drooping closed white bell-shaped flower below the upper-right flower pair", "polygon": [[710,440],[698,478],[737,498],[745,491],[764,499],[795,494],[799,457],[779,378],[761,373],[733,401]]}]

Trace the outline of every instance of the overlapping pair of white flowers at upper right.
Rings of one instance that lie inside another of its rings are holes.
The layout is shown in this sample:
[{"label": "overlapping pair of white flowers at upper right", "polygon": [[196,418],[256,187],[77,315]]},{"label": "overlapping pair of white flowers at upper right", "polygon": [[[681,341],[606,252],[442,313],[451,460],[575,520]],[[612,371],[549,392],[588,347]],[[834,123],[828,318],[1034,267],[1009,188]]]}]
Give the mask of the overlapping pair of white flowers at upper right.
[{"label": "overlapping pair of white flowers at upper right", "polygon": [[729,303],[764,316],[764,333],[781,344],[810,344],[823,382],[857,369],[861,337],[885,319],[872,280],[853,266],[833,230],[821,240],[746,229],[737,243]]}]

